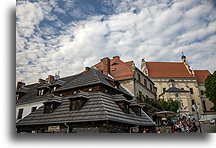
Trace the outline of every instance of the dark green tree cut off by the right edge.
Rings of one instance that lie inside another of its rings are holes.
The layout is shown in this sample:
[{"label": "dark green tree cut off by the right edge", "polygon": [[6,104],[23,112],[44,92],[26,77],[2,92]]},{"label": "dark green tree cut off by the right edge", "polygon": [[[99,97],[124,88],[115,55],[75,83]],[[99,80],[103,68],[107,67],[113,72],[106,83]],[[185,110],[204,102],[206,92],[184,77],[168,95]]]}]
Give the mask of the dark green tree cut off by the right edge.
[{"label": "dark green tree cut off by the right edge", "polygon": [[216,71],[205,80],[206,97],[214,104],[211,110],[216,111]]}]

